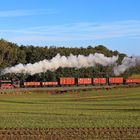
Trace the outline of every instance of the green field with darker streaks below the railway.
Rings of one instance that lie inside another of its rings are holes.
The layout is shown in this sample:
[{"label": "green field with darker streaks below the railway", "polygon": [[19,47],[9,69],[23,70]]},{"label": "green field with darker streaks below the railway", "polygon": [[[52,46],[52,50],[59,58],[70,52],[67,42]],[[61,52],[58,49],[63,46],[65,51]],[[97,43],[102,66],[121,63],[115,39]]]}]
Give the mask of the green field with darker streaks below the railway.
[{"label": "green field with darker streaks below the railway", "polygon": [[140,127],[140,87],[0,95],[0,128]]}]

